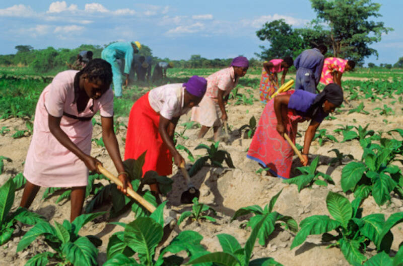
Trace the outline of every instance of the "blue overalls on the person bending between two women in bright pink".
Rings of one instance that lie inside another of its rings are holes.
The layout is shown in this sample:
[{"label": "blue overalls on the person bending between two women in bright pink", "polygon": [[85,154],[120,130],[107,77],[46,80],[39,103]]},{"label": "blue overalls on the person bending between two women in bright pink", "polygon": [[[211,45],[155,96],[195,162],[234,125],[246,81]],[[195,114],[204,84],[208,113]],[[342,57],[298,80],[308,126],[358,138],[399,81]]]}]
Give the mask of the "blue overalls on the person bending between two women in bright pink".
[{"label": "blue overalls on the person bending between two women in bright pink", "polygon": [[311,69],[317,84],[319,83],[320,75],[322,74],[323,61],[323,54],[319,51],[319,49],[313,48],[305,50],[298,55],[297,59],[294,61],[294,66],[297,68],[297,70],[300,67]]}]

